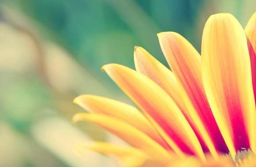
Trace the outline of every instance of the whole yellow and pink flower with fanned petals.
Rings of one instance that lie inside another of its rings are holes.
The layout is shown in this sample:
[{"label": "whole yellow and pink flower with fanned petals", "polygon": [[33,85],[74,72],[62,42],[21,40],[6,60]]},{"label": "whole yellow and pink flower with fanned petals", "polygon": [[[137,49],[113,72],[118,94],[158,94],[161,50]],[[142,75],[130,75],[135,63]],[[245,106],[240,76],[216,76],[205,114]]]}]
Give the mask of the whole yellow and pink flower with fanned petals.
[{"label": "whole yellow and pink flower with fanned petals", "polygon": [[90,113],[77,113],[73,122],[96,123],[131,145],[87,148],[126,167],[256,165],[256,13],[245,30],[231,14],[211,15],[201,56],[178,33],[158,39],[172,71],[142,47],[135,47],[136,71],[102,67],[141,111],[94,95],[75,98]]}]

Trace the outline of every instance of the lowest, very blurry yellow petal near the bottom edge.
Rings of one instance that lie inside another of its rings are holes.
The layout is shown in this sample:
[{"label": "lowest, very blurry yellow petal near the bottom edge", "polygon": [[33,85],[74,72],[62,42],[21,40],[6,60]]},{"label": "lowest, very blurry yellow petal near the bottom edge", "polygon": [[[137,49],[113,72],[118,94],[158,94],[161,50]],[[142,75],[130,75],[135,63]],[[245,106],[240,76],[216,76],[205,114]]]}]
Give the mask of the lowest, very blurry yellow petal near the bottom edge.
[{"label": "lowest, very blurry yellow petal near the bottom edge", "polygon": [[140,167],[150,157],[140,149],[124,147],[106,142],[90,142],[79,145],[78,150],[90,149],[121,160],[122,167]]}]

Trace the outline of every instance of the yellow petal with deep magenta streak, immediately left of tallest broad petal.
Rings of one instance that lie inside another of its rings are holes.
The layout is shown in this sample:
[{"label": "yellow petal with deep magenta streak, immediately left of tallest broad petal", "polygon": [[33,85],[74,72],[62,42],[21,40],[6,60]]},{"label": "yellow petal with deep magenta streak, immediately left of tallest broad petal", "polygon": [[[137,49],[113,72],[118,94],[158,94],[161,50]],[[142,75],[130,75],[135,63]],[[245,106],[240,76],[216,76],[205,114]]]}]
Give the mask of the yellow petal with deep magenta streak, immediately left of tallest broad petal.
[{"label": "yellow petal with deep magenta streak, immediately left of tallest broad petal", "polygon": [[214,154],[212,142],[219,151],[227,151],[203,89],[200,54],[178,33],[158,33],[158,38],[166,60],[181,85],[180,92],[188,108],[188,115],[196,123],[202,138],[210,138],[205,140],[206,145]]}]

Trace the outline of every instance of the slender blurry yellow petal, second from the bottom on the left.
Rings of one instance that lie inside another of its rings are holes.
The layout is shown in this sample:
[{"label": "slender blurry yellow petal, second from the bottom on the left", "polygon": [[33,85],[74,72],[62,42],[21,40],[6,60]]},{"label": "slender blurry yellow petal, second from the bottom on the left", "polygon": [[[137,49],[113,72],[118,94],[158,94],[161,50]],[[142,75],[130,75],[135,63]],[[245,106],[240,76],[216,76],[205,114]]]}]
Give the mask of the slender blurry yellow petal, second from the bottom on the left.
[{"label": "slender blurry yellow petal, second from the bottom on the left", "polygon": [[103,114],[89,113],[77,113],[72,119],[74,123],[82,120],[95,123],[116,134],[130,145],[143,150],[155,160],[167,162],[170,158],[170,154],[161,145],[124,121]]}]

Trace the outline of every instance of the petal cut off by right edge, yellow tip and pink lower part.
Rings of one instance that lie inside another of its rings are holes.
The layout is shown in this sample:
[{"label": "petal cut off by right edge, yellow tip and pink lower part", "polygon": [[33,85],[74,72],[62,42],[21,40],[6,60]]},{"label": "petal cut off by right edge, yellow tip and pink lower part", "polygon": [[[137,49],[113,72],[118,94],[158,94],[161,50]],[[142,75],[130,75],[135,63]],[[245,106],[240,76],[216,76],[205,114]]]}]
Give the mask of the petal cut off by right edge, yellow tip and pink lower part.
[{"label": "petal cut off by right edge, yellow tip and pink lower part", "polygon": [[245,33],[247,36],[247,45],[251,60],[252,69],[252,86],[254,98],[256,98],[256,12],[252,15],[245,27]]}]

